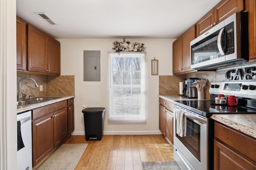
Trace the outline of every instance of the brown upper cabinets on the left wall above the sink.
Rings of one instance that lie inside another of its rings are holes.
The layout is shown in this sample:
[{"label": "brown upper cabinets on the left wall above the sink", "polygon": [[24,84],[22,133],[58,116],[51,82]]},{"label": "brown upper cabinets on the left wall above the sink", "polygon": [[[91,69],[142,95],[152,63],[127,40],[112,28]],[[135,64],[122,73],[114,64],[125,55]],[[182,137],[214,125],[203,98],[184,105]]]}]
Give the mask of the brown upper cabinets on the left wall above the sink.
[{"label": "brown upper cabinets on the left wall above the sink", "polygon": [[29,72],[32,74],[60,75],[60,42],[40,31],[33,25],[30,25],[25,21],[24,23],[25,31],[22,33],[25,35],[22,36],[27,37],[27,39],[22,46],[25,51],[22,56],[22,61],[25,63],[25,66],[20,66],[20,37],[22,36],[19,35],[21,32],[20,25],[17,24],[17,71]]}]

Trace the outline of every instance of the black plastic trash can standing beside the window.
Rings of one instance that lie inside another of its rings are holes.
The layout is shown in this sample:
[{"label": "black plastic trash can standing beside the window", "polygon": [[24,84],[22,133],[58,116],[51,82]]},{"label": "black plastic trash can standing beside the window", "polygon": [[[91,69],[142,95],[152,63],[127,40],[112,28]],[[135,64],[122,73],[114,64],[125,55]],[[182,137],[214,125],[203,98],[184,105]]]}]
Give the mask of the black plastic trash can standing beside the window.
[{"label": "black plastic trash can standing beside the window", "polygon": [[103,121],[105,107],[88,107],[82,110],[84,113],[85,139],[98,139],[103,135]]}]

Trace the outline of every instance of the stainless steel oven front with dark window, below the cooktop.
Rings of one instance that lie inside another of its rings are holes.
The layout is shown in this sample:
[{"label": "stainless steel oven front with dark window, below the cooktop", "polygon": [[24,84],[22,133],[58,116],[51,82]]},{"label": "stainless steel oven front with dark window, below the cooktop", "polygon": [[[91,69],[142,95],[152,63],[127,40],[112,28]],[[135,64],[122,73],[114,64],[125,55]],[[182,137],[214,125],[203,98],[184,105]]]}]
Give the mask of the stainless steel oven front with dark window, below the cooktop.
[{"label": "stainless steel oven front with dark window, below the cooktop", "polygon": [[[184,111],[184,136],[178,135],[178,112]],[[208,119],[174,105],[174,160],[183,170],[208,170]],[[186,127],[185,127],[186,126]]]}]

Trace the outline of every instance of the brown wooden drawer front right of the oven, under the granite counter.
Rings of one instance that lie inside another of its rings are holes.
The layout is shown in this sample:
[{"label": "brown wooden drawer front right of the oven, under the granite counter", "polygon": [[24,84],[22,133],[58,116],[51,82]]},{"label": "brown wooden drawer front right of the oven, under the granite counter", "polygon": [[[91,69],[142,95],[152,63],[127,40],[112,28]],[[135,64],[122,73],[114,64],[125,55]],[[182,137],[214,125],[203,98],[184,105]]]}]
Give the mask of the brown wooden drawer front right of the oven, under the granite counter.
[{"label": "brown wooden drawer front right of the oven, under the granite counter", "polygon": [[233,150],[237,150],[238,152],[246,155],[248,158],[256,161],[255,139],[252,139],[217,122],[214,122],[214,138],[229,145],[233,148]]}]

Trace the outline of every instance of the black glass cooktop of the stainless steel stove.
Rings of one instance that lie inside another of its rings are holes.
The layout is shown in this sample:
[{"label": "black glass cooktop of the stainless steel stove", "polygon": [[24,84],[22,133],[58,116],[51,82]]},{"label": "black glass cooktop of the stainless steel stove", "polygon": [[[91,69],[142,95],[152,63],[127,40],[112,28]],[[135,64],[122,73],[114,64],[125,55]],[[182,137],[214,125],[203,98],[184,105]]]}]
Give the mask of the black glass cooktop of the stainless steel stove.
[{"label": "black glass cooktop of the stainless steel stove", "polygon": [[211,104],[210,100],[182,100],[174,101],[174,104],[183,107],[184,109],[198,113],[204,117],[210,117],[217,113],[256,113],[256,110],[242,106],[228,106]]}]

